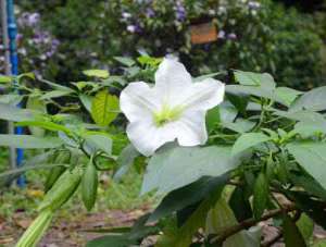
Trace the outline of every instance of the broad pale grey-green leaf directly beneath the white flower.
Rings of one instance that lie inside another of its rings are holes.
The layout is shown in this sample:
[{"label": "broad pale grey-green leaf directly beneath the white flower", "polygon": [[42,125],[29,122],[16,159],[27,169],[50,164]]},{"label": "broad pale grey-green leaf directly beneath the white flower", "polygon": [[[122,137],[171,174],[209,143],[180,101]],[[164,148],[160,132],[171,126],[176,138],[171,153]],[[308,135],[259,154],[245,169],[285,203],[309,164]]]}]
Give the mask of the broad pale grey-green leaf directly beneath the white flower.
[{"label": "broad pale grey-green leaf directly beneath the white flower", "polygon": [[220,176],[239,163],[239,157],[230,157],[230,147],[166,147],[150,159],[141,193],[168,193],[202,176]]}]

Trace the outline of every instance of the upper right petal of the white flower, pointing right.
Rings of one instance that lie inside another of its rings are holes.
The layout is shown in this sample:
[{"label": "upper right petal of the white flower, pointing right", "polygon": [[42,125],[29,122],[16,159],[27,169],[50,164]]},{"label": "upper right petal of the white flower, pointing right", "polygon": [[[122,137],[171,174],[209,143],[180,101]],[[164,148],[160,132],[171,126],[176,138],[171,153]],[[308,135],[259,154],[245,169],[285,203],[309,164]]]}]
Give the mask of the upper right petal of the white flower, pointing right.
[{"label": "upper right petal of the white flower, pointing right", "polygon": [[191,110],[209,110],[223,101],[225,85],[220,81],[206,78],[195,83],[179,96],[176,104]]}]

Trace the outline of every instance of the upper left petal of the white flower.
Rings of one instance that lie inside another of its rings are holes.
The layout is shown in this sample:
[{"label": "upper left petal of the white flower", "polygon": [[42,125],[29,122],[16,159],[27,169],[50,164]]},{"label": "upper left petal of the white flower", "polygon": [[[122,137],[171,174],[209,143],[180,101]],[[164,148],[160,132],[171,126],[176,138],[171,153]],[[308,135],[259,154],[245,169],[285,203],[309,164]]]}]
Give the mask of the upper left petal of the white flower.
[{"label": "upper left petal of the white flower", "polygon": [[155,90],[143,82],[130,83],[120,96],[120,108],[130,122],[151,115],[160,107]]}]

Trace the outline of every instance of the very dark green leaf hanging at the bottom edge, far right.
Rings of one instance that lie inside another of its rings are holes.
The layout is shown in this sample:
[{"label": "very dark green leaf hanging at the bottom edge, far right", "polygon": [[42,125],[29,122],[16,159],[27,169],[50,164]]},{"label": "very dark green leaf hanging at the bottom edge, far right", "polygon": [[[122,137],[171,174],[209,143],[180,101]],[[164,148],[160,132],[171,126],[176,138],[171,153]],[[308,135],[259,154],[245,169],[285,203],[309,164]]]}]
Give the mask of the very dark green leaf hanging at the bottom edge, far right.
[{"label": "very dark green leaf hanging at the bottom edge, far right", "polygon": [[306,247],[304,238],[290,217],[284,217],[283,229],[286,247]]}]

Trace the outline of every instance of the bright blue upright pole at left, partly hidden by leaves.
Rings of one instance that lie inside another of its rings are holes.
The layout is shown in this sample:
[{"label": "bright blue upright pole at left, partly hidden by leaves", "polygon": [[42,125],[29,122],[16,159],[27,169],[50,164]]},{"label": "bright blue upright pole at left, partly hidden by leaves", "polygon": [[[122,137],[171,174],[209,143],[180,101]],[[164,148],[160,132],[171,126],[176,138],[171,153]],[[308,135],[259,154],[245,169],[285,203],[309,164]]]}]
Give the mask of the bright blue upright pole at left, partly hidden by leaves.
[{"label": "bright blue upright pole at left, partly hidden by leaves", "polygon": [[[7,13],[8,13],[8,36],[9,36],[9,50],[10,50],[10,62],[11,62],[11,73],[12,75],[18,74],[18,55],[17,55],[17,48],[16,48],[16,36],[17,36],[17,26],[15,23],[15,15],[14,15],[14,2],[13,0],[7,0]],[[15,82],[16,84],[17,82]],[[17,86],[17,85],[16,85]],[[18,94],[18,91],[17,91]],[[18,106],[21,107],[21,106]],[[15,134],[22,135],[23,128],[16,127]],[[23,158],[24,158],[24,150],[17,149],[16,150],[16,163],[17,166],[22,166]],[[25,187],[25,176],[21,175],[17,180],[17,185],[20,187]]]}]

